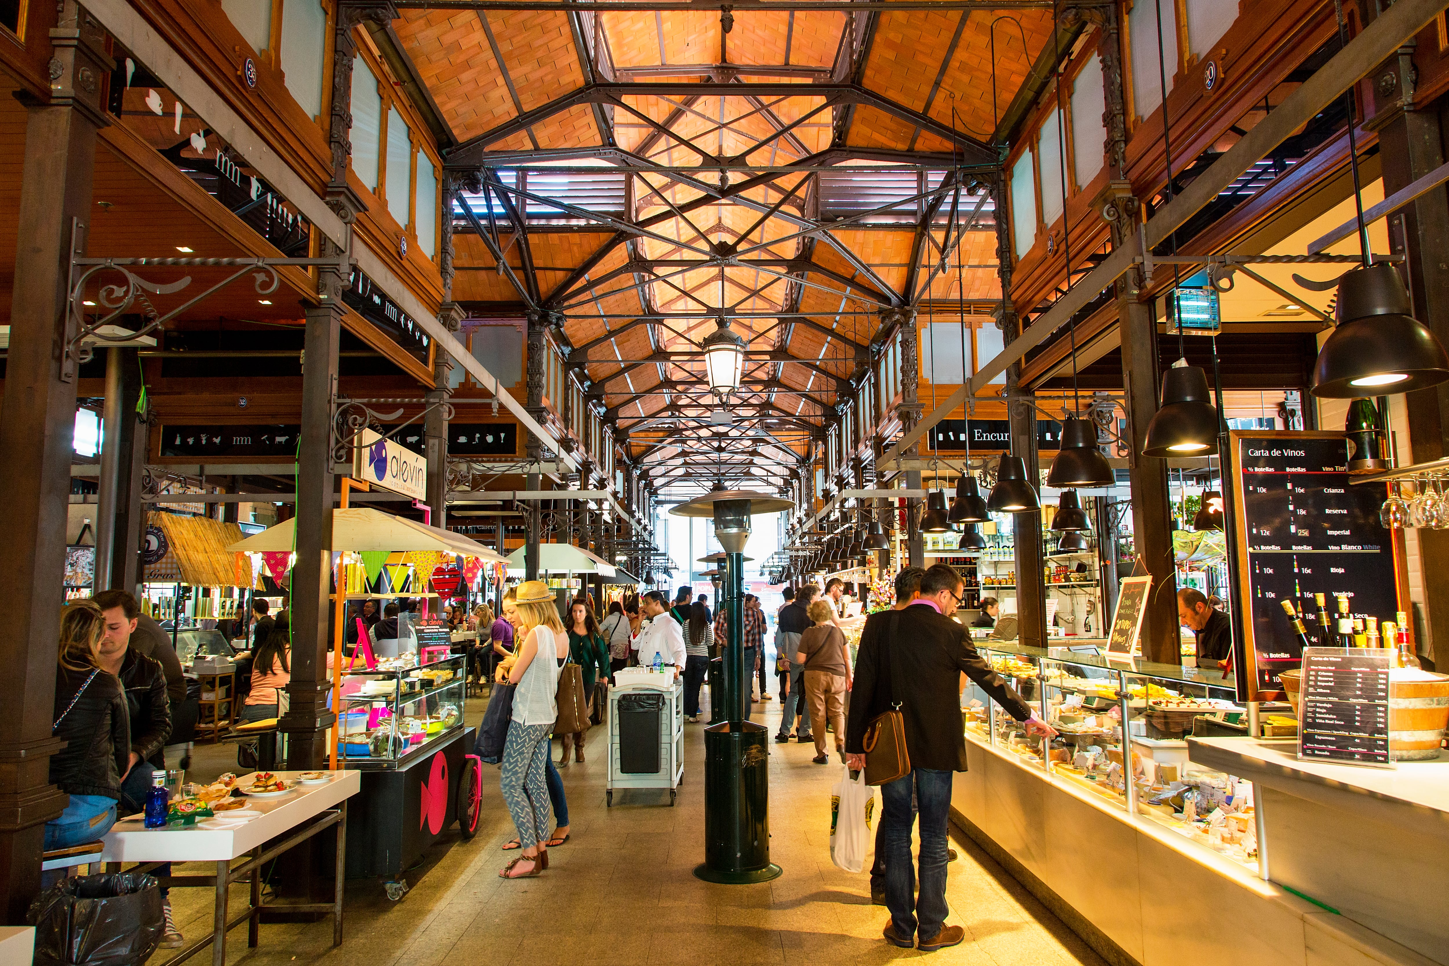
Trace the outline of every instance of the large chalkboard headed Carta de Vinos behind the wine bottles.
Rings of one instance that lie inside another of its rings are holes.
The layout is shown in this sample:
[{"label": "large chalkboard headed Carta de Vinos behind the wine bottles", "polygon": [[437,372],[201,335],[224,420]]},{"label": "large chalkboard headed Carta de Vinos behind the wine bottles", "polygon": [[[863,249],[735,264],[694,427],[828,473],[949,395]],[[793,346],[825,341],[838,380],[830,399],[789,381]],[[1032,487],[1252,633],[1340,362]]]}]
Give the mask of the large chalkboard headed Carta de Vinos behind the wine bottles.
[{"label": "large chalkboard headed Carta de Vinos behind the wine bottles", "polygon": [[1239,701],[1281,701],[1278,674],[1298,667],[1303,645],[1284,614],[1291,600],[1317,629],[1313,595],[1329,612],[1382,618],[1398,603],[1392,535],[1378,522],[1382,486],[1352,486],[1340,432],[1233,431],[1237,560],[1246,641],[1235,643]]}]

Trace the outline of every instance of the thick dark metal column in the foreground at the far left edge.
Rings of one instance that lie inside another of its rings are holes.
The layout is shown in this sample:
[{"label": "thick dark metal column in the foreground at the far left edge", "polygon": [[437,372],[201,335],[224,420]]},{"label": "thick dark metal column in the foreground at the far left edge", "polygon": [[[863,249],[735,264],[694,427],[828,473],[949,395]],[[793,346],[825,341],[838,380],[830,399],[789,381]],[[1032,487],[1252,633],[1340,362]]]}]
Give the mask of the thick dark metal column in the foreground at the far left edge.
[{"label": "thick dark metal column in the foreground at the far left edge", "polygon": [[[35,42],[39,42],[36,38]],[[6,724],[0,732],[0,921],[25,921],[41,891],[45,822],[67,798],[49,783],[51,754],[62,743],[55,721],[55,641],[65,573],[65,515],[71,492],[75,376],[61,358],[70,323],[71,252],[84,254],[91,213],[96,131],[107,122],[97,77],[110,73],[100,25],[62,0],[51,30],[51,97],[26,97],[25,165],[16,222],[20,232],[10,296],[6,358],[4,453],[10,560],[0,569],[6,634],[0,663]]]}]

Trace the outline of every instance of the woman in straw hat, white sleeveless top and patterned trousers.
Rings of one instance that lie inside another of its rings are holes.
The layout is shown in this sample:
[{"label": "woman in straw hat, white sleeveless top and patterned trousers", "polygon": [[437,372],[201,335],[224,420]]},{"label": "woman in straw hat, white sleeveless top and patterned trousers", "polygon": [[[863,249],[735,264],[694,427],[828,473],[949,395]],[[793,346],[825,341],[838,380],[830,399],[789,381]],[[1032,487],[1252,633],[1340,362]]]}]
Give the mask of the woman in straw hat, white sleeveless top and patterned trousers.
[{"label": "woman in straw hat, white sleeveless top and patterned trousers", "polygon": [[519,585],[516,606],[523,619],[523,643],[509,672],[513,693],[513,724],[503,746],[503,801],[519,830],[520,856],[498,873],[504,879],[526,879],[548,869],[549,799],[545,769],[551,754],[549,734],[558,718],[558,673],[568,660],[568,634],[558,618],[554,592],[542,580]]}]

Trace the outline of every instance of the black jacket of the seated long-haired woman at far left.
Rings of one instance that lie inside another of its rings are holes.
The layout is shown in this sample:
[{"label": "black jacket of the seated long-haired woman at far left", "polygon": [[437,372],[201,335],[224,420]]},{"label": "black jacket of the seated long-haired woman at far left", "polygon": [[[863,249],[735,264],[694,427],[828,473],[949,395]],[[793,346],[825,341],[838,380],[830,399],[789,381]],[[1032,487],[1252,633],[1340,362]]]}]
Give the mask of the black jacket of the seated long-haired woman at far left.
[{"label": "black jacket of the seated long-haired woman at far left", "polygon": [[[130,715],[120,680],[100,672],[74,708],[75,692],[90,672],[55,672],[55,737],[65,747],[51,756],[51,785],[67,795],[104,795],[120,801],[120,776],[130,764]],[[65,709],[70,708],[70,712]]]}]

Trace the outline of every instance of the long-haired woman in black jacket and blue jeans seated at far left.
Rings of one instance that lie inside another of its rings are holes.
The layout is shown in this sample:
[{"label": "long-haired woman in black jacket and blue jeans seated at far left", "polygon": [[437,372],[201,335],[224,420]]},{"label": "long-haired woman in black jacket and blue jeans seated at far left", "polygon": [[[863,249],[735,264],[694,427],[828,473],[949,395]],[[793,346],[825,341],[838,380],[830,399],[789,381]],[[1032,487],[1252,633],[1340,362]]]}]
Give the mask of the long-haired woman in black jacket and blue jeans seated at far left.
[{"label": "long-haired woman in black jacket and blue jeans seated at far left", "polygon": [[52,734],[65,747],[51,756],[49,780],[71,799],[58,818],[45,822],[46,851],[83,846],[110,831],[120,783],[130,770],[126,690],[100,669],[106,618],[93,600],[77,600],[61,612]]}]

